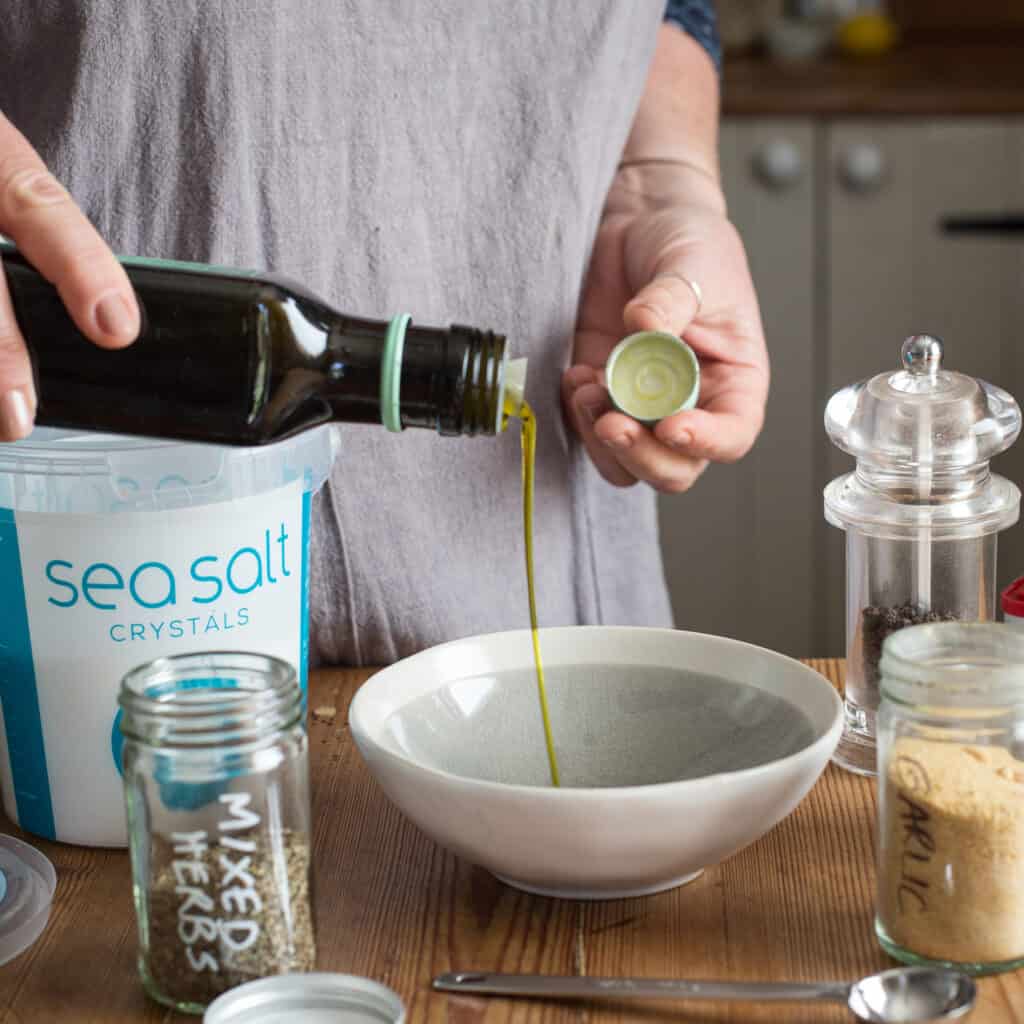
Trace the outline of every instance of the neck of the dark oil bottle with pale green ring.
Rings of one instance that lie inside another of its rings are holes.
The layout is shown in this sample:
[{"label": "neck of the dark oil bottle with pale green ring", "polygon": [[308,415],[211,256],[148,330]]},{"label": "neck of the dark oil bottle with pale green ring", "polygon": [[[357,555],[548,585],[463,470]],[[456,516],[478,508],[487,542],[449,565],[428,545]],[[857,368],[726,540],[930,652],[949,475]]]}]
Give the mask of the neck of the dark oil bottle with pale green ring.
[{"label": "neck of the dark oil bottle with pale green ring", "polygon": [[495,434],[504,428],[505,352],[505,338],[489,331],[344,317],[331,331],[324,397],[336,420]]}]

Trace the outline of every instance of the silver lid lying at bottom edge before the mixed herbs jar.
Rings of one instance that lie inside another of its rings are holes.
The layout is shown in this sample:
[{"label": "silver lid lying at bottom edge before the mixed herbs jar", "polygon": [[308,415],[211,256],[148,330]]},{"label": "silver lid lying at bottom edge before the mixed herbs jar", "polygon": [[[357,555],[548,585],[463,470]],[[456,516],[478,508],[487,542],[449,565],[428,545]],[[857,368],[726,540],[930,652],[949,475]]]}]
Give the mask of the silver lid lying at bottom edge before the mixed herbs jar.
[{"label": "silver lid lying at bottom edge before the mixed herbs jar", "polygon": [[283,974],[219,995],[203,1024],[403,1024],[406,1008],[384,985],[351,974]]}]

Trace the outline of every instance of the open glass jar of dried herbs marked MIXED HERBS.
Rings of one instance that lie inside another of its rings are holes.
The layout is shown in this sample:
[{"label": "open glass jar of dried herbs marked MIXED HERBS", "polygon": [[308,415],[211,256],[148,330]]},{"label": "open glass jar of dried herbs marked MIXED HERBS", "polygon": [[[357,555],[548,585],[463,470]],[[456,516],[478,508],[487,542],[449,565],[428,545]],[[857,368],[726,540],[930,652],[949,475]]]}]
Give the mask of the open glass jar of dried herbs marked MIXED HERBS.
[{"label": "open glass jar of dried herbs marked MIXED HERBS", "polygon": [[166,657],[121,686],[139,973],[202,1013],[266,975],[311,971],[308,740],[294,669]]}]

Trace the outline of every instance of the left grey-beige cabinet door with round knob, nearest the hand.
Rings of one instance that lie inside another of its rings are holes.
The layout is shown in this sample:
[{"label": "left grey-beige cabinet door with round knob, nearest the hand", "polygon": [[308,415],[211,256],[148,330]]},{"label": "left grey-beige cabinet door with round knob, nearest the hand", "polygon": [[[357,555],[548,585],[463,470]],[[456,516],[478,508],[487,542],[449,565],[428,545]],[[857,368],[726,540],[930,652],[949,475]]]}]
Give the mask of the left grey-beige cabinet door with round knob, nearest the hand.
[{"label": "left grey-beige cabinet door with round knob, nearest the hand", "polygon": [[727,121],[722,169],[772,339],[761,438],[734,466],[659,499],[676,623],[786,652],[814,643],[815,131],[810,121]]}]

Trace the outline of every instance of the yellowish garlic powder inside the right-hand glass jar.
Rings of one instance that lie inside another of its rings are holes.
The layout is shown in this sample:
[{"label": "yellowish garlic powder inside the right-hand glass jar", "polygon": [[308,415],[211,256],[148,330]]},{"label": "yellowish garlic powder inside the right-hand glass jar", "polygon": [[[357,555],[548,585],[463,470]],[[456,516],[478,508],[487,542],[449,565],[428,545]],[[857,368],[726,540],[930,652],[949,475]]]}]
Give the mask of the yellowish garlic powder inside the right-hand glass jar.
[{"label": "yellowish garlic powder inside the right-hand glass jar", "polygon": [[902,737],[884,782],[890,938],[933,959],[1024,957],[1024,763],[1002,746]]}]

